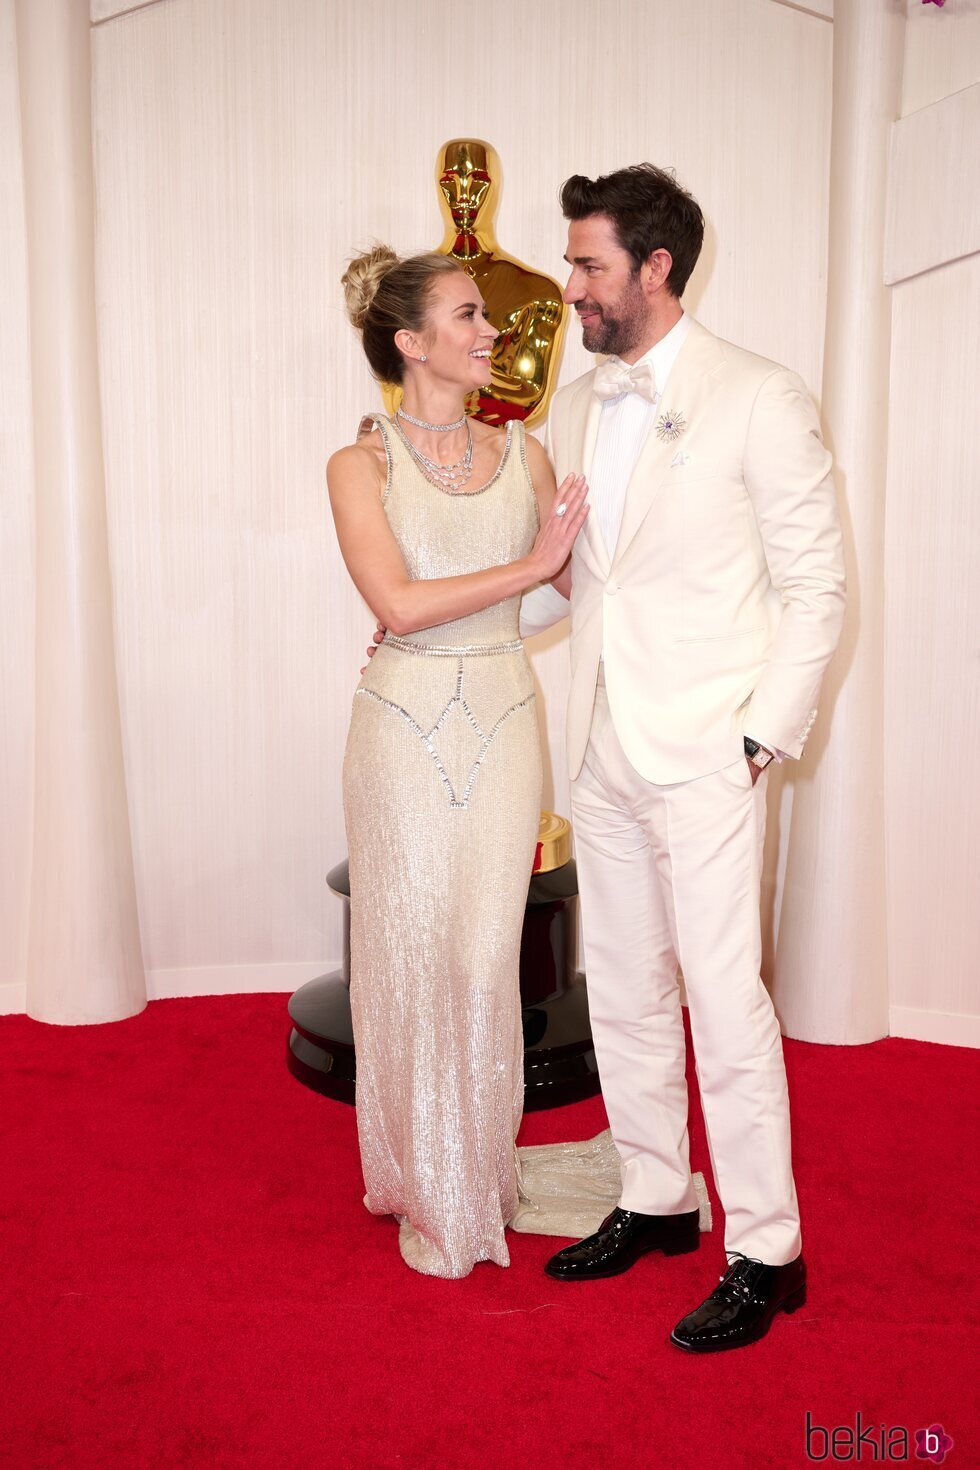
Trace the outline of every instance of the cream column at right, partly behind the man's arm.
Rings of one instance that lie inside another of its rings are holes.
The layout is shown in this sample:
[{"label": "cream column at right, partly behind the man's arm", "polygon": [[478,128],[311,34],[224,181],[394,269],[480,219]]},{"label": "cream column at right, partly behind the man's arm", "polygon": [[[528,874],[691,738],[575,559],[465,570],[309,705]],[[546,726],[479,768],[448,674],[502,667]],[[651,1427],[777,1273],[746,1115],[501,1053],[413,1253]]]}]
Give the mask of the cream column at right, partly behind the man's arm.
[{"label": "cream column at right, partly behind the man's arm", "polygon": [[890,301],[882,273],[904,4],[836,0],[823,420],[835,457],[848,613],[795,781],[773,1000],[790,1036],[887,1035],[884,926],[884,472]]}]

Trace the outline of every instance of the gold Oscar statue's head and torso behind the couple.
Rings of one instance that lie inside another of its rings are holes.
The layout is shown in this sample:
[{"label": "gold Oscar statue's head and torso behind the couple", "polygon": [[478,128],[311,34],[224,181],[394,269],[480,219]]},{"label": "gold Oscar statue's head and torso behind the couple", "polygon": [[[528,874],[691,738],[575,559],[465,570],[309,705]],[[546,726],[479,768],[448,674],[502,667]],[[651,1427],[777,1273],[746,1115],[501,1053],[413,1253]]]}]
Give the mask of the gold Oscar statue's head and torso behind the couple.
[{"label": "gold Oscar statue's head and torso behind the couple", "polygon": [[[491,381],[467,397],[467,413],[483,423],[523,419],[533,425],[545,416],[554,390],[566,309],[557,281],[497,244],[500,176],[500,159],[489,143],[454,138],[445,144],[436,172],[447,220],[439,250],[473,276],[500,332],[491,354]],[[401,388],[383,384],[382,392],[385,409],[394,413]]]}]

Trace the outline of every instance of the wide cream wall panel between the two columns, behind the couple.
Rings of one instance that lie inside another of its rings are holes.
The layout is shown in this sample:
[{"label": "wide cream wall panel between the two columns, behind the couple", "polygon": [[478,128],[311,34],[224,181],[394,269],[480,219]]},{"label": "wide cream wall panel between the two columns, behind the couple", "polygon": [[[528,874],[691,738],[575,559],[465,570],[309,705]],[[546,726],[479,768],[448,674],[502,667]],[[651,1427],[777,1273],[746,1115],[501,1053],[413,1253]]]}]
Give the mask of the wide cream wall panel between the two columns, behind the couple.
[{"label": "wide cream wall panel between the two columns, behind the couple", "polygon": [[[495,144],[500,240],[554,275],[567,173],[674,165],[710,220],[689,304],[818,387],[832,26],[770,0],[569,15],[500,0],[494,32],[514,41],[488,49],[483,12],[450,0],[167,0],[94,34],[104,441],[150,972],[339,954],[323,875],[345,851],[339,764],[370,617],[323,465],[379,397],[336,282],[373,238],[438,243],[444,140]],[[563,381],[588,366],[572,325]],[[564,660],[563,645],[535,656],[560,810]]]}]

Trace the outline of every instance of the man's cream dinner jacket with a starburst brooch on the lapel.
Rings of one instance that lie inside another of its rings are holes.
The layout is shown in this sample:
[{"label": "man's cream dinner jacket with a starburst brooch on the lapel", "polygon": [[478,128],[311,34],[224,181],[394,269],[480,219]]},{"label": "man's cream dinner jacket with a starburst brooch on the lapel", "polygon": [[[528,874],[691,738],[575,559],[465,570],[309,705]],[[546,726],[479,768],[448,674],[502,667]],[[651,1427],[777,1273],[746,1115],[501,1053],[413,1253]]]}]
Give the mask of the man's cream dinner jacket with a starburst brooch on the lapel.
[{"label": "man's cream dinner jacket with a starburst brooch on the lapel", "polygon": [[[545,444],[558,484],[586,476],[594,370],[555,394]],[[796,373],[691,323],[639,453],[610,556],[589,516],[572,559],[567,753],[574,779],[599,656],[620,744],[658,785],[732,764],[742,734],[798,757],[845,604],[830,454]],[[525,598],[522,634],[569,606]]]}]

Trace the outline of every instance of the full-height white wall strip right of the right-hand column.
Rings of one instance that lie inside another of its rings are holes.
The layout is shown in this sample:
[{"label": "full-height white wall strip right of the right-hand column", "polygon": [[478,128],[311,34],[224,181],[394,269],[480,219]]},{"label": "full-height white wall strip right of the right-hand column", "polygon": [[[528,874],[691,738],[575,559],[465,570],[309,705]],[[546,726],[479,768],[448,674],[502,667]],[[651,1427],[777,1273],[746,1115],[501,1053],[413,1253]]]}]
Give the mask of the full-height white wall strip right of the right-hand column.
[{"label": "full-height white wall strip right of the right-hand column", "polygon": [[980,4],[908,0],[886,251],[890,1026],[961,1045],[980,1044],[980,254],[955,257],[980,248],[977,82]]}]

